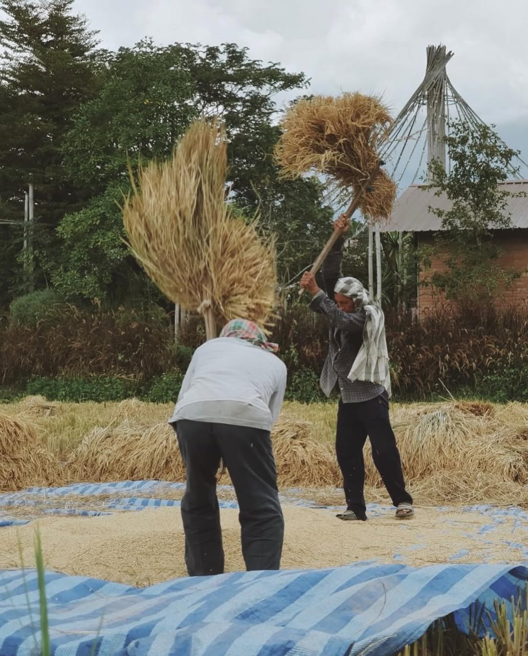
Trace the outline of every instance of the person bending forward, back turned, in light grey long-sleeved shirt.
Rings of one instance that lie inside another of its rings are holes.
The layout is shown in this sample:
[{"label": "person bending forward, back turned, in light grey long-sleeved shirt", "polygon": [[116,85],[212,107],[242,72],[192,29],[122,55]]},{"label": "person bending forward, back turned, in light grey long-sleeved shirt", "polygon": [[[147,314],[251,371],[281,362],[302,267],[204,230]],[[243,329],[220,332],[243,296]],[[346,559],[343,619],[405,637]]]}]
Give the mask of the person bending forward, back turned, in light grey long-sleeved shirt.
[{"label": "person bending forward, back turned, in light grey long-sleeved shirt", "polygon": [[277,344],[234,319],[195,351],[174,415],[187,485],[181,512],[190,576],[221,574],[224,550],[216,472],[223,460],[239,505],[247,570],[279,569],[284,520],[270,432],[286,388]]}]

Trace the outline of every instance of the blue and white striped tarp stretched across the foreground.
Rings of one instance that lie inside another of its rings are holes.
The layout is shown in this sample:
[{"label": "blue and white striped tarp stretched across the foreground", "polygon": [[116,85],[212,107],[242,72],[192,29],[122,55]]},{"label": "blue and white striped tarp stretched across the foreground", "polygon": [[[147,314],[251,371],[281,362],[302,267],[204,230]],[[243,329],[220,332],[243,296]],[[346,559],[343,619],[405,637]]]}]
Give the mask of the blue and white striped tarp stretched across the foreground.
[{"label": "blue and white striped tarp stretched across the foreground", "polygon": [[[467,629],[473,602],[491,609],[527,579],[512,565],[359,563],[133,588],[50,572],[46,596],[54,656],[389,656],[449,613]],[[35,571],[0,571],[0,655],[38,643]]]}]

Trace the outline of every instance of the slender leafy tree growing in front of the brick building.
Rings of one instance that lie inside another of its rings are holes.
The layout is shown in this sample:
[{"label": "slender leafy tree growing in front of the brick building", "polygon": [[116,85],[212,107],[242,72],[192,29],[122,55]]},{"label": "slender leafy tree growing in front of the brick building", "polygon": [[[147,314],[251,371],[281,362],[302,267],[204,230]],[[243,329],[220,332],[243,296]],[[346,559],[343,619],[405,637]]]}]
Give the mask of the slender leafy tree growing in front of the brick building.
[{"label": "slender leafy tree growing in front of the brick building", "polygon": [[487,297],[500,281],[508,283],[519,275],[498,264],[501,250],[494,239],[495,230],[512,226],[507,206],[516,194],[498,183],[512,174],[511,162],[519,153],[508,148],[493,127],[455,121],[445,138],[451,171],[438,161],[430,166],[428,188],[436,188],[436,195],[445,194],[452,203],[449,210],[430,207],[441,218],[436,251],[445,256],[447,267],[445,273],[434,272],[431,283],[447,298]]}]

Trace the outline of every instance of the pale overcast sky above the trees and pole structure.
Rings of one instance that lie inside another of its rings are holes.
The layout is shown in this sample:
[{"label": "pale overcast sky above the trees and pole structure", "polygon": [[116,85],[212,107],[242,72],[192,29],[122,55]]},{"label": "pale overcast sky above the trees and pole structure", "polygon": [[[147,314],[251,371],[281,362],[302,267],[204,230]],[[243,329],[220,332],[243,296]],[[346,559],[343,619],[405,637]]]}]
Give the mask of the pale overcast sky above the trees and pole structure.
[{"label": "pale overcast sky above the trees and pole structure", "polygon": [[528,0],[75,0],[108,49],[232,41],[312,79],[313,93],[376,92],[399,112],[427,45],[455,53],[457,91],[528,160]]}]

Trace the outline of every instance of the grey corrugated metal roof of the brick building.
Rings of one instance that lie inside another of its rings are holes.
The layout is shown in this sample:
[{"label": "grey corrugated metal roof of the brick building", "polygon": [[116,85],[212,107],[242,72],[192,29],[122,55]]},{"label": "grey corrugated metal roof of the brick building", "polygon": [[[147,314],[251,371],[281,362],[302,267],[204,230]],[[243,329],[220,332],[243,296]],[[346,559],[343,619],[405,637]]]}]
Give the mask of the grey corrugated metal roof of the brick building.
[{"label": "grey corrugated metal roof of the brick building", "polygon": [[[445,195],[434,195],[433,189],[424,189],[423,184],[411,184],[397,199],[390,221],[382,226],[381,232],[401,230],[403,232],[428,232],[440,230],[441,220],[428,211],[428,207],[451,209],[451,201]],[[500,186],[512,193],[526,192],[526,197],[508,199],[507,212],[512,215],[514,228],[528,228],[528,180],[506,180]]]}]

